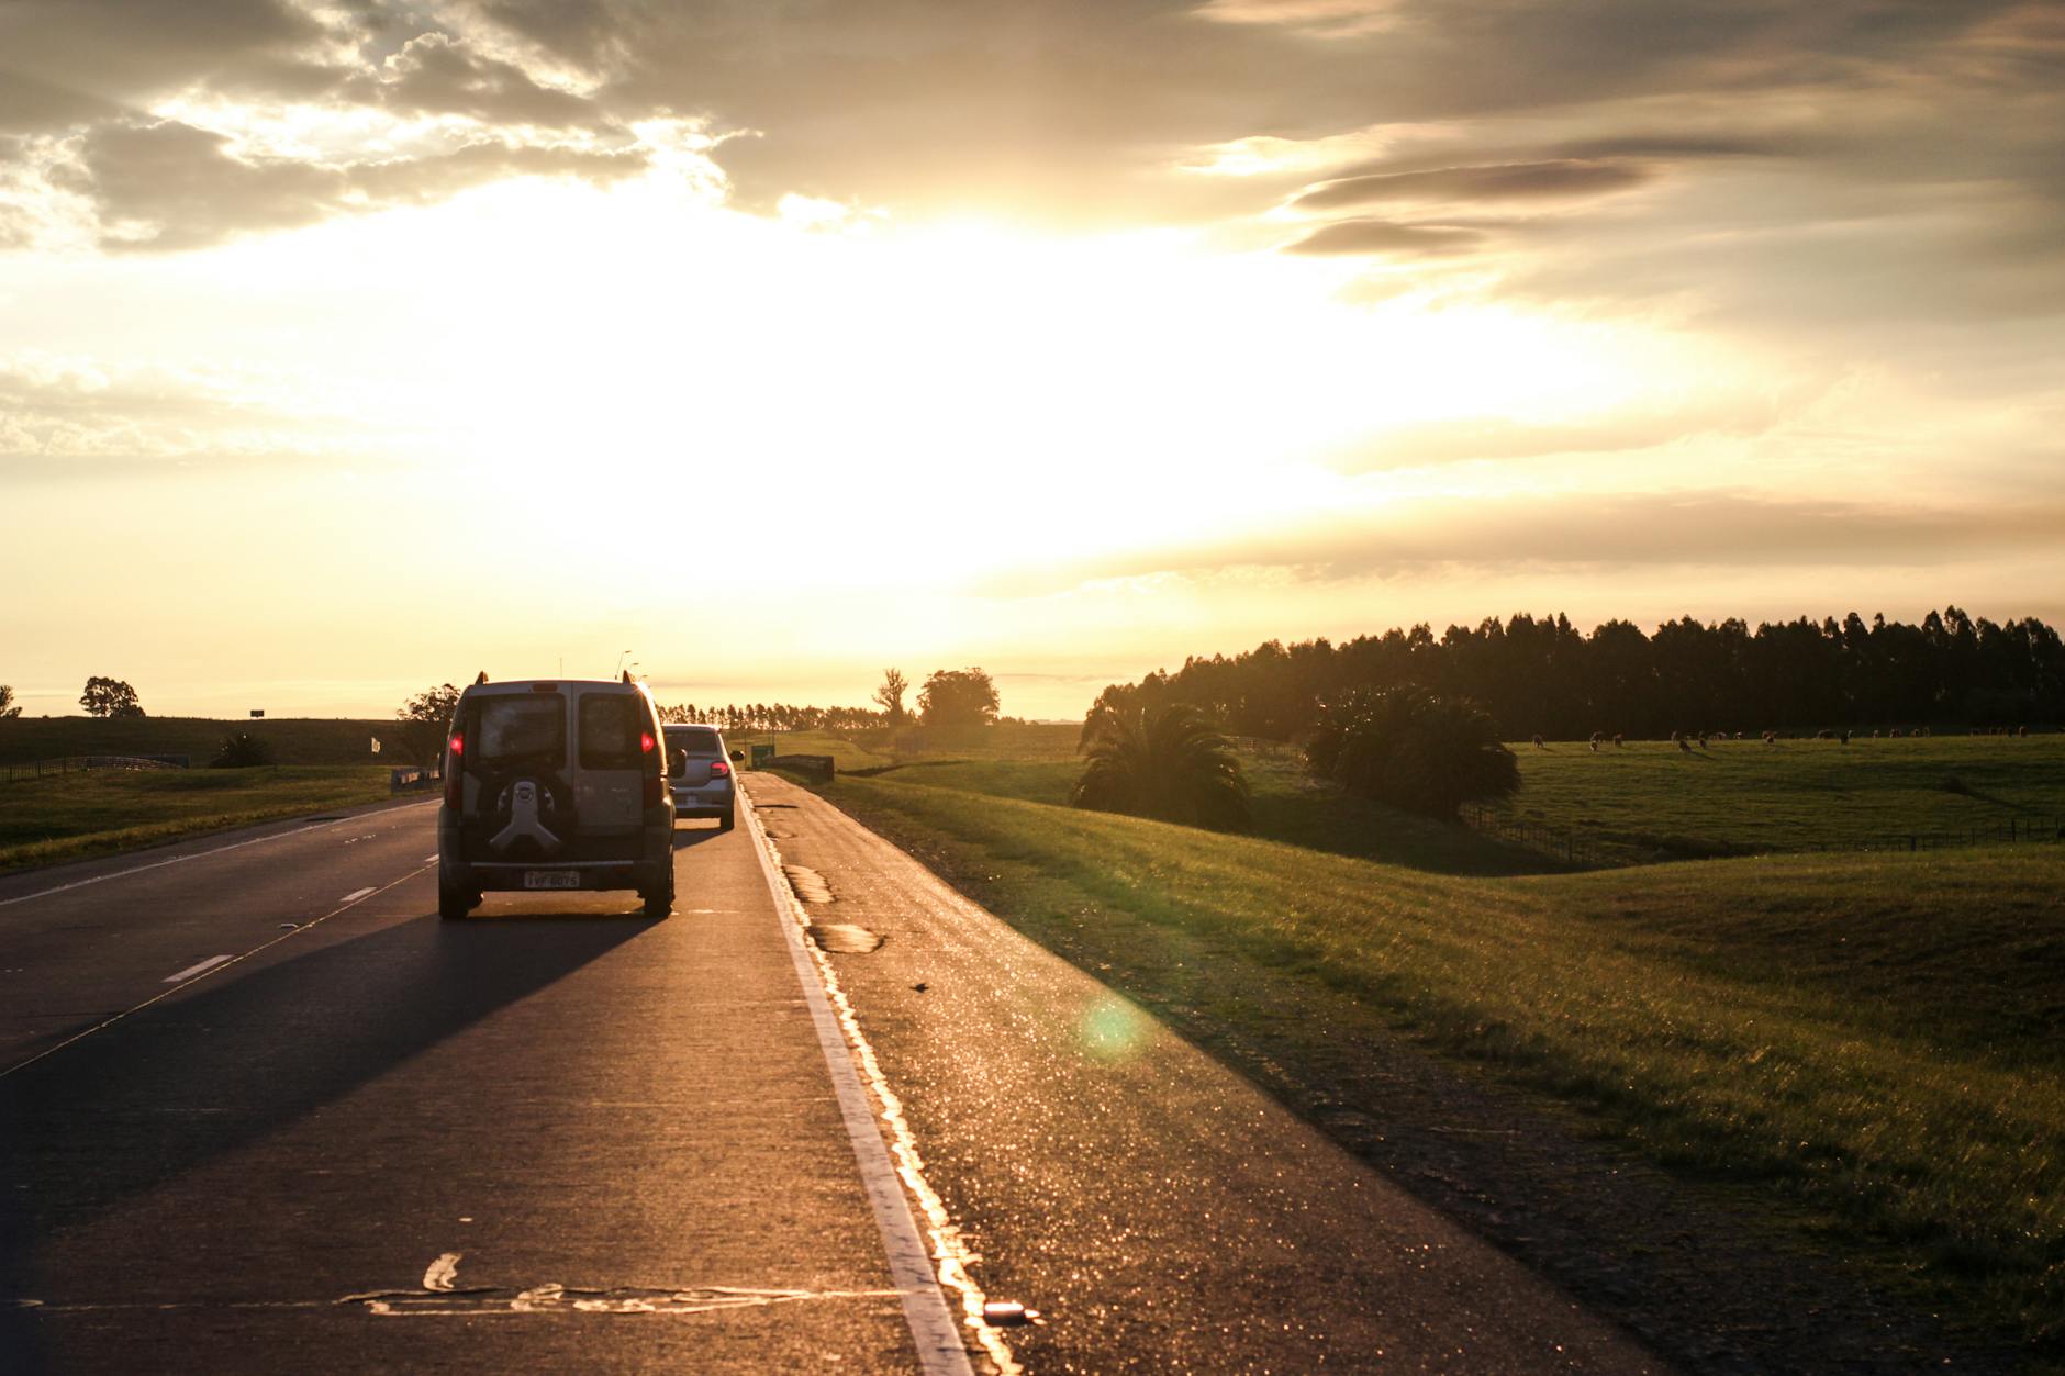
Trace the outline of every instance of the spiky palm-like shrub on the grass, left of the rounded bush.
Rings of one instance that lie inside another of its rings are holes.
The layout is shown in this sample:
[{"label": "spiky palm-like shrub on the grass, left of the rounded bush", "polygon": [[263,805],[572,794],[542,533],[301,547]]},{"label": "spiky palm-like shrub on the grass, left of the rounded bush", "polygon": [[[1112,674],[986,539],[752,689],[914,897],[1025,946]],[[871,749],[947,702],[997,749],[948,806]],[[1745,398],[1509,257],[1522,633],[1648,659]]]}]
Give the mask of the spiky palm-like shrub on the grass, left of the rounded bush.
[{"label": "spiky palm-like shrub on the grass, left of the rounded bush", "polygon": [[1247,826],[1247,779],[1233,742],[1187,702],[1099,707],[1076,746],[1088,756],[1070,802],[1185,826]]}]

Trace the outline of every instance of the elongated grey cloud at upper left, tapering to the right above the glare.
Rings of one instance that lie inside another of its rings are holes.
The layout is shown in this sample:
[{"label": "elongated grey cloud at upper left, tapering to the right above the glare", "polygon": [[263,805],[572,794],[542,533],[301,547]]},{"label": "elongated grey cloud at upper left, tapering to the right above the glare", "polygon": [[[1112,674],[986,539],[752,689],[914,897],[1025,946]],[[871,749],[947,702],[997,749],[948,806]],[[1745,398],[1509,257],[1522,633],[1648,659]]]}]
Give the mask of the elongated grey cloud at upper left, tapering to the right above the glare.
[{"label": "elongated grey cloud at upper left, tapering to the right above the glare", "polygon": [[475,143],[450,153],[326,165],[244,159],[190,124],[103,124],[54,180],[89,196],[112,250],[184,250],[227,236],[291,229],[328,215],[448,196],[510,176],[611,180],[644,167],[638,153]]}]

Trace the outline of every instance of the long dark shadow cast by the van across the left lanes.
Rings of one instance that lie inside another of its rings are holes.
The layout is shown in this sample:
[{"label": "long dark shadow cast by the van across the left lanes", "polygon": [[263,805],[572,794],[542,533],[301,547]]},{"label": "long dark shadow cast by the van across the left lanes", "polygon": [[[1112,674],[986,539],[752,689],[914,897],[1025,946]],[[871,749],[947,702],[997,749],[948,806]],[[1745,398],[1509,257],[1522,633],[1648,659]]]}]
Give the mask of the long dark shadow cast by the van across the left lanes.
[{"label": "long dark shadow cast by the van across the left lanes", "polygon": [[[555,915],[564,917],[564,915]],[[644,917],[403,921],[229,971],[0,1078],[0,1357],[56,1233],[376,1081],[646,934]],[[14,1368],[21,1370],[21,1368]]]}]

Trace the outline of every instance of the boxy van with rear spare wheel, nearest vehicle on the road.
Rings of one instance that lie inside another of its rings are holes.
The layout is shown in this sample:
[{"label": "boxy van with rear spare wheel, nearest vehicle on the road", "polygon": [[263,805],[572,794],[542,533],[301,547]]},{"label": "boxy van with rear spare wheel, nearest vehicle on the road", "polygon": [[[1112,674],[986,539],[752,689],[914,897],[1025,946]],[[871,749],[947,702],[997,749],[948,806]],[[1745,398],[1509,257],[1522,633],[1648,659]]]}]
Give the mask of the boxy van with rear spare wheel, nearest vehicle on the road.
[{"label": "boxy van with rear spare wheel, nearest vehicle on the road", "polygon": [[634,888],[673,911],[673,793],[644,684],[483,674],[444,742],[438,915],[487,890]]}]

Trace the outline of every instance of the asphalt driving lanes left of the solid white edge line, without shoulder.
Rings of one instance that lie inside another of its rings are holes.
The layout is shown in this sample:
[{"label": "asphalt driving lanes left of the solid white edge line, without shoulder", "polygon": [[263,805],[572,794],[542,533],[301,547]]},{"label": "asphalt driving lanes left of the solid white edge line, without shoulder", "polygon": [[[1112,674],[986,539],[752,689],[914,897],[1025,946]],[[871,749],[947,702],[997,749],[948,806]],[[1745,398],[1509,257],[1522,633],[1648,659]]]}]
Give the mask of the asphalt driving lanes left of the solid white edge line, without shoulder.
[{"label": "asphalt driving lanes left of the solid white edge line, without shoulder", "polygon": [[0,1370],[913,1370],[752,833],[446,924],[432,818],[0,886]]}]

